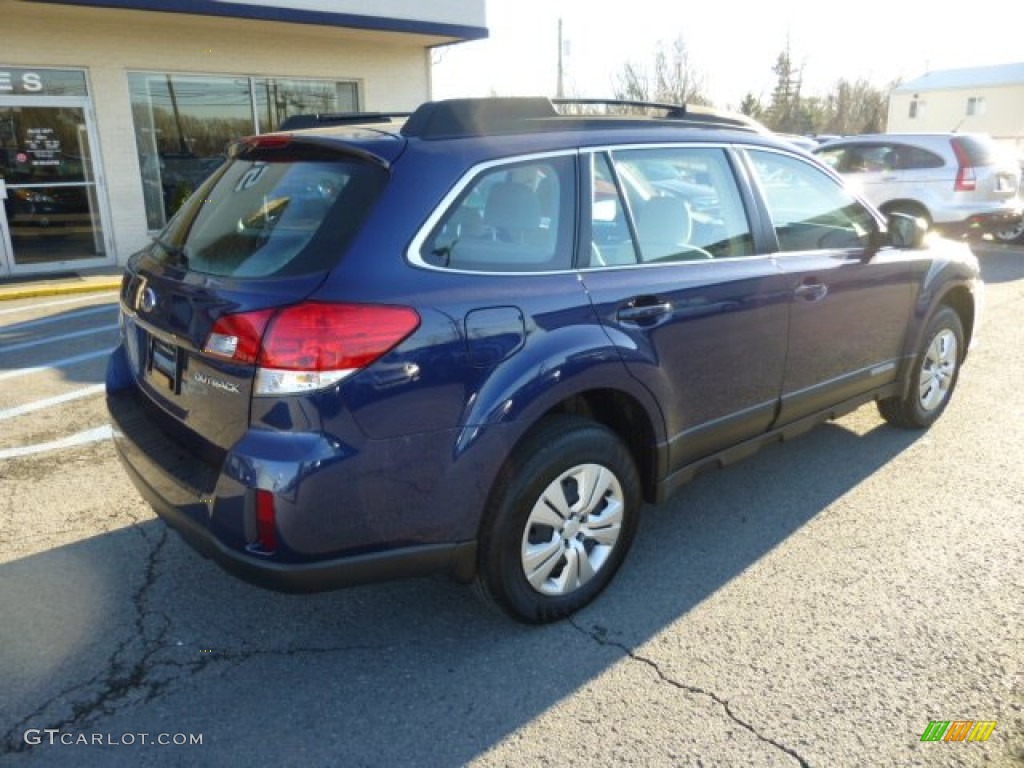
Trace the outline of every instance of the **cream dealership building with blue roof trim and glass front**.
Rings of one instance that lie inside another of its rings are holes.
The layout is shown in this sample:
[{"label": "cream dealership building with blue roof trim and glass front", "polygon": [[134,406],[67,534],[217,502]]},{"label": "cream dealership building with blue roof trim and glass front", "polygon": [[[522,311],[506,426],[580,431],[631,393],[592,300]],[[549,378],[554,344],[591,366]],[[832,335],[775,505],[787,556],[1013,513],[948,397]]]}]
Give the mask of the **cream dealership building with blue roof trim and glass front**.
[{"label": "cream dealership building with blue roof trim and glass front", "polygon": [[241,136],[408,112],[484,0],[0,0],[0,278],[112,267]]}]

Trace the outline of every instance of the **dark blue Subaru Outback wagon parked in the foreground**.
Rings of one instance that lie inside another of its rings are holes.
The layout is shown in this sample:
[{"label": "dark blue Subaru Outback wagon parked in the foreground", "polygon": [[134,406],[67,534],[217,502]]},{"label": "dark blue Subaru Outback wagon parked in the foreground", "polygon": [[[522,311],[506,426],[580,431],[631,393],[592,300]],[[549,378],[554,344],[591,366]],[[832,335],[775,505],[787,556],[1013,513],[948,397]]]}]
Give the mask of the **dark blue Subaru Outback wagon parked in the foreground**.
[{"label": "dark blue Subaru Outback wagon parked in the foreground", "polygon": [[966,246],[728,115],[560,109],[244,139],[130,259],[116,445],[196,549],[287,591],[446,572],[552,621],[696,472],[872,400],[940,416]]}]

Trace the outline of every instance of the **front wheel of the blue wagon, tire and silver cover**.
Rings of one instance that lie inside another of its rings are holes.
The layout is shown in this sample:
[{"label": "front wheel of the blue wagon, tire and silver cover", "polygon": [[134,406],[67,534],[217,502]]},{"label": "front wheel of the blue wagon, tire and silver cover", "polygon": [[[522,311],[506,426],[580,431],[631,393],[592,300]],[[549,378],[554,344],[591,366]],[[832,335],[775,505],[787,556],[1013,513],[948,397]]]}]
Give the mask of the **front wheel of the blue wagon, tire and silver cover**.
[{"label": "front wheel of the blue wagon, tire and silver cover", "polygon": [[910,385],[901,397],[879,400],[882,418],[895,427],[925,429],[949,404],[964,362],[964,325],[948,306],[940,306],[925,329],[910,369]]}]

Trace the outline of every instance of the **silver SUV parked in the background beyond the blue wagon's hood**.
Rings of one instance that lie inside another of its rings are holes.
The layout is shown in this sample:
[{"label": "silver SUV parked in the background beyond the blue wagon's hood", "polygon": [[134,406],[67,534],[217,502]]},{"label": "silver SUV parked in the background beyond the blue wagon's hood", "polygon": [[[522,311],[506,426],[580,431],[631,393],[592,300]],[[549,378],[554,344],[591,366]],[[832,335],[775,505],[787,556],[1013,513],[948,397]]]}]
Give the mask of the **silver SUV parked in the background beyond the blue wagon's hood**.
[{"label": "silver SUV parked in the background beyond the blue wagon's hood", "polygon": [[944,234],[1002,231],[1021,220],[1021,169],[985,134],[847,136],[815,154],[884,213],[919,216]]}]

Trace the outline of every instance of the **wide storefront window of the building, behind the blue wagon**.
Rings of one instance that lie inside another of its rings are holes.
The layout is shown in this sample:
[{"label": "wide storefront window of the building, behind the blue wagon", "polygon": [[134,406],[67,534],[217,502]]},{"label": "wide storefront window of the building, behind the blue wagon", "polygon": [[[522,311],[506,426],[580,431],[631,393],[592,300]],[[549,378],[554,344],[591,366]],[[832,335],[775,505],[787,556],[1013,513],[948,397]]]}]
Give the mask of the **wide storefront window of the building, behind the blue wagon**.
[{"label": "wide storefront window of the building, behind the blue wagon", "polygon": [[129,73],[146,224],[161,228],[226,158],[231,141],[289,115],[355,111],[354,83]]}]

